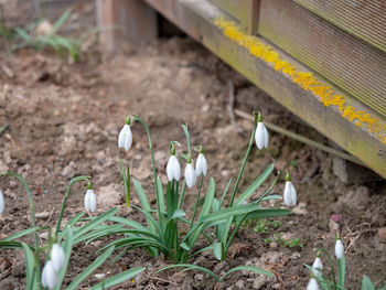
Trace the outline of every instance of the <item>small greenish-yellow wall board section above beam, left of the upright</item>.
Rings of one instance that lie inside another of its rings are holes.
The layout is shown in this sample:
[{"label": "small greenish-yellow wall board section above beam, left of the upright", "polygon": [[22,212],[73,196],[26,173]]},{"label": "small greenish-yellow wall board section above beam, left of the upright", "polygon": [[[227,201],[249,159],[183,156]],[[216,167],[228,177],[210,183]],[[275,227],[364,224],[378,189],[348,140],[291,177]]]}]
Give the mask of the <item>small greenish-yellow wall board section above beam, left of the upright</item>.
[{"label": "small greenish-yellow wall board section above beam, left of the upright", "polygon": [[211,0],[240,22],[248,34],[257,33],[259,0]]}]

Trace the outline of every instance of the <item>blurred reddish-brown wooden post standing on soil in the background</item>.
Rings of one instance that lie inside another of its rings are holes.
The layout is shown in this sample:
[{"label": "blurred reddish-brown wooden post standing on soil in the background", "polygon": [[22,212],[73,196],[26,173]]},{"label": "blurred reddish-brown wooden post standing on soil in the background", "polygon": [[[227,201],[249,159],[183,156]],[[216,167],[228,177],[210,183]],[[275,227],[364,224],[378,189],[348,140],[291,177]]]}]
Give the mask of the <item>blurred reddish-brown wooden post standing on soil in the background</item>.
[{"label": "blurred reddish-brown wooden post standing on soil in the background", "polygon": [[108,51],[142,45],[158,36],[157,14],[141,0],[97,0],[97,18],[100,43]]}]

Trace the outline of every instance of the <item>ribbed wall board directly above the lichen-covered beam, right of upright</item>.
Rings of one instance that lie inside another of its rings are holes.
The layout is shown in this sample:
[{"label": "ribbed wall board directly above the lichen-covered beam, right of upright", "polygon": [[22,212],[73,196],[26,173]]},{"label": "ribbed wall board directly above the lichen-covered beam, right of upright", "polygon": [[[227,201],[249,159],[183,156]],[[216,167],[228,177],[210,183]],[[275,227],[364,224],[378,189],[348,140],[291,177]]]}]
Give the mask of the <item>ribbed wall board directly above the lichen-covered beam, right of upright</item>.
[{"label": "ribbed wall board directly above the lichen-covered beam, right of upright", "polygon": [[261,0],[259,34],[386,116],[386,54],[288,0]]}]

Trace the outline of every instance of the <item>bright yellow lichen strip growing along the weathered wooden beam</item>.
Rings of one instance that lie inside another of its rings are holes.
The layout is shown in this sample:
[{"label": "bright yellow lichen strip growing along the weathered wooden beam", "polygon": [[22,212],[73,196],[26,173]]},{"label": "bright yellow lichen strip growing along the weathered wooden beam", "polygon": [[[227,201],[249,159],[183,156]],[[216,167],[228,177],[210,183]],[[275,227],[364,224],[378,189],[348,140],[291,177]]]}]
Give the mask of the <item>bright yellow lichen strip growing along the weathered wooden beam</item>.
[{"label": "bright yellow lichen strip growing along the weathered wooden beam", "polygon": [[380,125],[377,118],[369,116],[364,110],[347,106],[344,96],[335,95],[330,86],[319,82],[311,72],[297,72],[294,66],[280,58],[272,46],[262,43],[256,36],[245,34],[235,22],[218,18],[215,20],[215,24],[229,40],[237,42],[248,50],[251,55],[270,64],[274,69],[289,76],[294,84],[312,92],[325,107],[337,107],[343,118],[346,118],[356,127],[367,128],[371,133],[374,133],[378,140],[386,144],[386,127]]}]

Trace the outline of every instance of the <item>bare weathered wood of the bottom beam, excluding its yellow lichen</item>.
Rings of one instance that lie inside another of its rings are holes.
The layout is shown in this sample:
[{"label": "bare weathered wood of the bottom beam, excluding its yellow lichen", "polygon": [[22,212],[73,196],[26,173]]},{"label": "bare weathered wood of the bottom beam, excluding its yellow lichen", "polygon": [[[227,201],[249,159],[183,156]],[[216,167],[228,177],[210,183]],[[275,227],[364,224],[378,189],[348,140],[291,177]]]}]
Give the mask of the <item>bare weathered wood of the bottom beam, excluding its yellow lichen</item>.
[{"label": "bare weathered wood of the bottom beam, excluding its yellow lichen", "polygon": [[[144,1],[254,84],[266,90],[277,101],[357,157],[375,172],[386,178],[386,157],[378,154],[379,150],[385,150],[385,144],[375,138],[374,135],[356,127],[354,122],[346,118],[342,118],[341,112],[336,108],[323,106],[320,99],[311,92],[304,90],[293,83],[290,77],[275,69],[266,61],[251,55],[250,51],[243,46],[242,43],[233,40],[225,31],[218,29],[215,24],[218,18],[230,22],[232,19],[217,7],[207,0]],[[260,37],[256,39],[264,42]],[[275,52],[280,54],[282,60],[291,62],[300,72],[308,71],[305,66],[280,50],[275,50]],[[321,82],[331,85],[337,94],[344,95],[350,106],[362,108],[361,104],[350,95],[339,90],[326,80]],[[256,106],[258,109],[264,104],[256,104]],[[372,116],[378,116],[371,109],[367,112]],[[383,118],[382,120],[385,125],[385,119]]]}]

